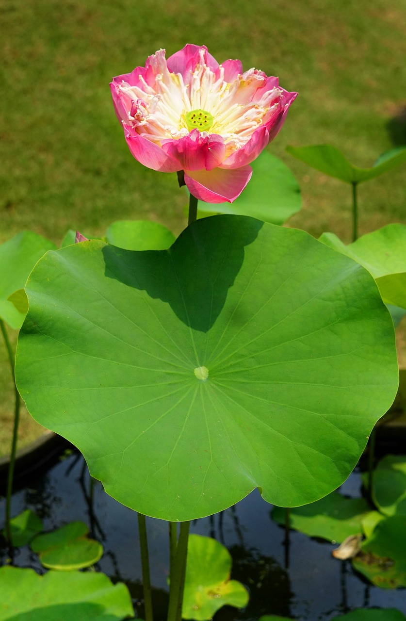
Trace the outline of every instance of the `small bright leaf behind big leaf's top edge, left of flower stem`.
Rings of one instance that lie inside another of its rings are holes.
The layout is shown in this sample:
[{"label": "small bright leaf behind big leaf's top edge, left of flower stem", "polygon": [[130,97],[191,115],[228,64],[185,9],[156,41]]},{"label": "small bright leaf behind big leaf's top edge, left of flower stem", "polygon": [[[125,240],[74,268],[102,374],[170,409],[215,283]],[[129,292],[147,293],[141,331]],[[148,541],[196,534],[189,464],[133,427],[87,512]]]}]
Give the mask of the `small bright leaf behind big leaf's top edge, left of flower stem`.
[{"label": "small bright leaf behind big leaf's top edge, left of flower stem", "polygon": [[158,222],[117,220],[107,229],[106,240],[125,250],[166,250],[175,237]]}]

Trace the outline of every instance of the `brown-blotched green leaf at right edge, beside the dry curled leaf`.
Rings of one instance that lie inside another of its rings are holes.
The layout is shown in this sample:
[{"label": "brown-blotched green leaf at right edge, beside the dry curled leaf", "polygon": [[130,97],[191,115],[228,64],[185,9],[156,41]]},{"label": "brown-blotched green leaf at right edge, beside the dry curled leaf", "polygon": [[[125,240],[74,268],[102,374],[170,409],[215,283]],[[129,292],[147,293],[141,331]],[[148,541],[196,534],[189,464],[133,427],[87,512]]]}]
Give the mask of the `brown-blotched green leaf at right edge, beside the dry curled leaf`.
[{"label": "brown-blotched green leaf at right edge, beside the dry curled leaf", "polygon": [[406,586],[406,516],[392,515],[379,522],[353,558],[353,566],[382,589]]}]

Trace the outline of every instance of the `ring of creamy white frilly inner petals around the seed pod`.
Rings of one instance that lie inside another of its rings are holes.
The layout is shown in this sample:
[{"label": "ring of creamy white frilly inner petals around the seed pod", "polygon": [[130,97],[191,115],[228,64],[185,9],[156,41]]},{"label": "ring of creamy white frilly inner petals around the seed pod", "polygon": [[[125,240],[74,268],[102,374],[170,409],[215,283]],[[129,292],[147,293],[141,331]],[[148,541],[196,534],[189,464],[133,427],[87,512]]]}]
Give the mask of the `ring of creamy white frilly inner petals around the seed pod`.
[{"label": "ring of creamy white frilly inner petals around the seed pod", "polygon": [[[133,102],[128,124],[138,134],[160,143],[166,138],[182,138],[189,134],[186,114],[204,110],[214,117],[210,134],[221,135],[227,150],[232,152],[245,145],[259,125],[268,120],[282,94],[281,89],[266,91],[259,101],[249,101],[264,78],[254,70],[239,75],[232,83],[223,79],[220,65],[219,78],[201,63],[194,70],[189,85],[180,73],[164,71],[155,76],[156,86],[148,86],[140,77],[142,88],[123,82],[119,90],[125,99]],[[133,114],[133,116],[132,116]]]}]

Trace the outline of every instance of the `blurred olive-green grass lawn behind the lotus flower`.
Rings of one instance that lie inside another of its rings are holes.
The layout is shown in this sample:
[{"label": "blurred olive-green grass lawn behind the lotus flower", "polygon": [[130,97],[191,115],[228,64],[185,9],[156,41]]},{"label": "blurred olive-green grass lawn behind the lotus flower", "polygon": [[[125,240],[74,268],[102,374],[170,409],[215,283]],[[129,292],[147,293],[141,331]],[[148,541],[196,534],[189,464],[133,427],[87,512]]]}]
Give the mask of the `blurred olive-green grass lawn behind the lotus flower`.
[{"label": "blurred olive-green grass lawn behind the lotus flower", "polygon": [[[329,142],[371,166],[405,142],[396,120],[406,102],[405,13],[404,0],[0,0],[0,243],[21,229],[55,242],[68,228],[97,235],[117,219],[184,228],[186,194],[176,175],[133,160],[109,81],[188,42],[299,92],[269,147],[302,186],[304,209],[289,224],[350,241],[350,186],[284,149]],[[360,186],[360,233],[406,222],[404,175]]]}]

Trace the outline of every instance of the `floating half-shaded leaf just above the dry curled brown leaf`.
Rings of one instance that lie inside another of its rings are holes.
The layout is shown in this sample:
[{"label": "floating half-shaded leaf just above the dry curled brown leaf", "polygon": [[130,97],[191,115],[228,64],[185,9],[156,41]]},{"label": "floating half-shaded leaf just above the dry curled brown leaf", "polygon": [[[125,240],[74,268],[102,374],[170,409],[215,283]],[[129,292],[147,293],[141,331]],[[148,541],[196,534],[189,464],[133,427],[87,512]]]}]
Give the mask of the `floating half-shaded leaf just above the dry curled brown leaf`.
[{"label": "floating half-shaded leaf just above the dry curled brown leaf", "polygon": [[[350,535],[363,532],[361,520],[371,511],[363,498],[345,498],[332,492],[320,501],[289,512],[291,527],[309,537],[322,537],[330,542],[342,543]],[[285,524],[286,509],[274,507],[273,519]]]}]

